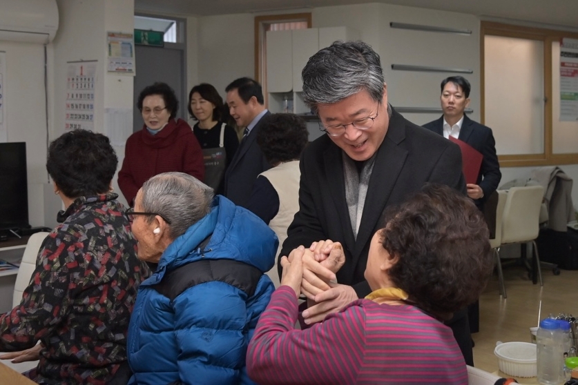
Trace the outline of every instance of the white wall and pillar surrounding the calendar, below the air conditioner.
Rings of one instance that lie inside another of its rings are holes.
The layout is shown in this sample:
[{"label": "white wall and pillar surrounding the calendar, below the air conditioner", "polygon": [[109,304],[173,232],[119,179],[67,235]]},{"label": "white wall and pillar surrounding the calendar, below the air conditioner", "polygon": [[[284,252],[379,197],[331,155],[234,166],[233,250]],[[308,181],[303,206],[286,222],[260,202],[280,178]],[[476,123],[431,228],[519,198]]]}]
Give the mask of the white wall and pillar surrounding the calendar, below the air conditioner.
[{"label": "white wall and pillar surrounding the calendar, below the air conditioner", "polygon": [[[46,172],[46,142],[64,132],[66,62],[98,60],[95,131],[104,130],[104,108],[132,108],[133,77],[106,72],[106,32],[132,32],[133,0],[57,0],[59,29],[46,47],[48,57],[48,129],[44,92],[44,46],[0,41],[6,52],[8,141],[26,141],[28,211],[32,226],[54,226],[61,201]],[[117,148],[122,161],[124,148]],[[116,179],[115,179],[116,181]]]}]

